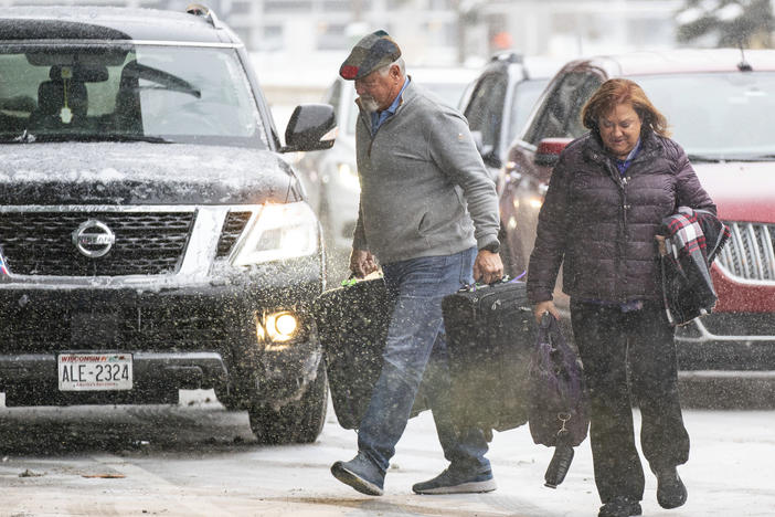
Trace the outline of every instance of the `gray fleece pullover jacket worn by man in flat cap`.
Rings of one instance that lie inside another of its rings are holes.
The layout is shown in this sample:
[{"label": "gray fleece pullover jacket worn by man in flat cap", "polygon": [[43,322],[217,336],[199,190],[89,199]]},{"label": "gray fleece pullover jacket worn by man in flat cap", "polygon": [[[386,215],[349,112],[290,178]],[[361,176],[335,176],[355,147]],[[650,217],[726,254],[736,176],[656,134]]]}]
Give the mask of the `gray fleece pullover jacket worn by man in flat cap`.
[{"label": "gray fleece pullover jacket worn by man in flat cap", "polygon": [[382,264],[498,243],[498,198],[466,119],[413,81],[371,135],[355,129],[361,184],[353,249]]}]

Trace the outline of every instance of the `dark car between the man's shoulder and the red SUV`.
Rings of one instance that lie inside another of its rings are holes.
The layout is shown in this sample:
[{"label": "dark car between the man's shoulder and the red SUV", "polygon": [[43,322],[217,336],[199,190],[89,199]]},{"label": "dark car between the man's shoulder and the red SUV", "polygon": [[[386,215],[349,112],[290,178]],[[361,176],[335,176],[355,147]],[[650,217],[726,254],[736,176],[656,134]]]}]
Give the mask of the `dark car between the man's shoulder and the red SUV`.
[{"label": "dark car between the man's shoulder and the red SUV", "polygon": [[506,162],[509,145],[561,65],[546,57],[501,52],[492,56],[466,91],[461,112],[493,179]]}]

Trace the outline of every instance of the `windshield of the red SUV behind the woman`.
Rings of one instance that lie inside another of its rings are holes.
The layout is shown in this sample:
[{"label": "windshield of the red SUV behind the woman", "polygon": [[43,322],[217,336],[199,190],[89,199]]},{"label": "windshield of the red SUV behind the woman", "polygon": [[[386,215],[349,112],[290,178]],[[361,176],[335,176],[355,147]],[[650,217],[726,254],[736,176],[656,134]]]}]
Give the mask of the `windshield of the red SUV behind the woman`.
[{"label": "windshield of the red SUV behind the woman", "polygon": [[775,73],[704,73],[633,77],[665,114],[688,154],[709,159],[775,154]]}]

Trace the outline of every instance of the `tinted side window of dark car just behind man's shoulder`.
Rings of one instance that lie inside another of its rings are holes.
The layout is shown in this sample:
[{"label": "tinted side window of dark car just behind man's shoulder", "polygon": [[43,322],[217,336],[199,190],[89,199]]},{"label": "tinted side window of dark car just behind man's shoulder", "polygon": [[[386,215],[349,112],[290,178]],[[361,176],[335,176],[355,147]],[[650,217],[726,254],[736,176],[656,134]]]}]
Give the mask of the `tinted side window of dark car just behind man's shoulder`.
[{"label": "tinted side window of dark car just behind man's shoulder", "polygon": [[468,119],[468,126],[473,131],[481,133],[481,141],[488,147],[498,144],[507,87],[506,81],[505,74],[492,74],[484,77],[474,91],[466,108],[465,115]]}]

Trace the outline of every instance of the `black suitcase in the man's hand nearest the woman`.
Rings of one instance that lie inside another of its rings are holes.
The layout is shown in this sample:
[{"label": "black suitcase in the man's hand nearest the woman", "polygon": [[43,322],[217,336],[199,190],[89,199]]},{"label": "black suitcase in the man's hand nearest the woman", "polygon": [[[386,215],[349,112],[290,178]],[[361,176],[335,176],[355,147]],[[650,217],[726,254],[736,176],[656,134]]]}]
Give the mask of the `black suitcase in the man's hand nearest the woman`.
[{"label": "black suitcase in the man's hand nearest the woman", "polygon": [[442,309],[454,418],[496,431],[527,423],[538,326],[525,284],[470,286],[446,296]]}]

